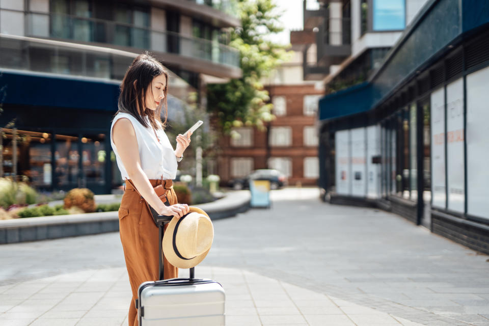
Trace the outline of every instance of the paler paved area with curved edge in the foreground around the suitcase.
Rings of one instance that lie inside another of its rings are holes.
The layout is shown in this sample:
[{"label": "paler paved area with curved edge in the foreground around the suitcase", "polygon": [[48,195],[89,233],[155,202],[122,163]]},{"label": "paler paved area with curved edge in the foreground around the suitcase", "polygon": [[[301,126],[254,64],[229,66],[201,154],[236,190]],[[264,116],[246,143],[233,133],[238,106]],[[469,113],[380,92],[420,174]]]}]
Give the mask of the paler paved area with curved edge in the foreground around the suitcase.
[{"label": "paler paved area with curved edge in the foreground around the suitcase", "polygon": [[[420,325],[246,270],[200,267],[198,274],[224,286],[228,326]],[[0,309],[5,311],[0,325],[125,326],[130,297],[124,267],[4,285],[0,287]]]}]

